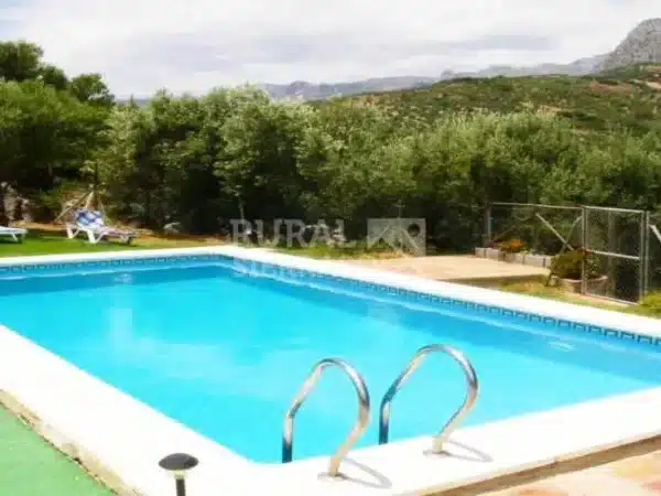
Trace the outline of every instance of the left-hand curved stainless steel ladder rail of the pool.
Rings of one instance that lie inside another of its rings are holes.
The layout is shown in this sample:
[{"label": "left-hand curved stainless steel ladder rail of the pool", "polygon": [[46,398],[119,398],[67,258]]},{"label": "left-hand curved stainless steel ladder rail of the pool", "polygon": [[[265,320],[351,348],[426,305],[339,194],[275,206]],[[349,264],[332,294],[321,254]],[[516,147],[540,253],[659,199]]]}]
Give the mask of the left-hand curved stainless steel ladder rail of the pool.
[{"label": "left-hand curved stainless steel ladder rail of the pool", "polygon": [[329,366],[339,367],[347,376],[349,376],[349,379],[351,379],[358,396],[358,419],[356,420],[356,423],[351,428],[351,431],[347,438],[335,451],[333,456],[330,456],[330,461],[328,463],[328,475],[332,477],[337,477],[339,476],[339,465],[342,461],[367,428],[370,410],[369,392],[367,390],[365,380],[354,367],[338,358],[324,358],[312,368],[312,371],[294,397],[294,401],[292,401],[291,407],[284,414],[284,429],[282,434],[282,463],[289,463],[293,457],[294,417],[299,411],[299,408],[301,408],[301,405],[303,405],[303,402],[310,396],[312,388],[314,388],[316,385],[317,380],[322,376],[322,373],[326,369],[326,367]]}]

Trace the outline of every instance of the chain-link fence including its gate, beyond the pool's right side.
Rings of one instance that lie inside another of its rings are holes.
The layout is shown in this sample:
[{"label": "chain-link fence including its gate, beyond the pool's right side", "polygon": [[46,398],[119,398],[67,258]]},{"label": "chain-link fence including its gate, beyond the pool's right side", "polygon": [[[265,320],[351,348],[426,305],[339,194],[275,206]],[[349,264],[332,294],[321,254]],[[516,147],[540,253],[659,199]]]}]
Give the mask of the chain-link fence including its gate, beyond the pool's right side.
[{"label": "chain-link fence including its gate, beyond the pool's right side", "polygon": [[661,214],[494,203],[486,209],[484,231],[488,248],[548,257],[581,249],[583,294],[636,302],[661,289]]}]

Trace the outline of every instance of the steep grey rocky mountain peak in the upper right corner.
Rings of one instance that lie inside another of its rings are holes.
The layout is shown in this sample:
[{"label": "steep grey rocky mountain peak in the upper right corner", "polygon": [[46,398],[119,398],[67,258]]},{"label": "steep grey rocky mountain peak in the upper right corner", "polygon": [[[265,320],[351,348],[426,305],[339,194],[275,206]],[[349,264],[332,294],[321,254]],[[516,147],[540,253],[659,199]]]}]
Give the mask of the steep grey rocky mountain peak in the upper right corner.
[{"label": "steep grey rocky mountain peak in the upper right corner", "polygon": [[661,63],[661,19],[648,19],[638,24],[598,68],[610,71],[649,63]]}]

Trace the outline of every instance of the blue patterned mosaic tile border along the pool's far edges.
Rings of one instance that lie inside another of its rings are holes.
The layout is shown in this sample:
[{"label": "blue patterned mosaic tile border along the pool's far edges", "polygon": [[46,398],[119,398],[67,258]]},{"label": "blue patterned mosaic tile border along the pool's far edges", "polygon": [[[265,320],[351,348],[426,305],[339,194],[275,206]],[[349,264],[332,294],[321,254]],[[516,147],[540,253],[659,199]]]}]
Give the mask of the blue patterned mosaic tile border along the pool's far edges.
[{"label": "blue patterned mosaic tile border along the pool's far edges", "polygon": [[622,339],[627,342],[636,342],[643,345],[650,345],[661,348],[661,337],[652,337],[641,334],[635,334],[628,331],[602,327],[579,322],[572,322],[564,319],[542,316],[534,313],[520,312],[497,305],[486,305],[483,303],[476,303],[449,296],[438,296],[425,292],[412,291],[402,288],[397,288],[393,285],[362,281],[359,279],[325,274],[322,272],[315,272],[306,269],[291,268],[285,266],[279,266],[275,263],[262,262],[258,260],[239,259],[221,254],[153,256],[127,259],[72,261],[61,263],[26,263],[17,266],[0,266],[0,279],[2,279],[3,277],[11,278],[17,276],[28,277],[31,274],[56,274],[58,272],[75,272],[80,270],[108,270],[112,268],[129,267],[148,268],[150,266],[154,266],[154,268],[158,268],[158,266],[162,265],[185,265],[191,262],[213,263],[219,261],[225,262],[223,265],[230,269],[245,271],[248,272],[248,274],[254,274],[260,277],[278,276],[279,278],[285,279],[313,279],[317,281],[324,281],[324,283],[339,284],[343,288],[348,287],[350,289],[359,289],[360,291],[371,293],[387,293],[389,295],[397,295],[398,298],[403,298],[407,301],[420,302],[425,304],[435,303],[444,306],[468,310],[470,312],[505,316],[513,321],[543,323],[550,326],[557,327],[562,331],[576,332],[579,334],[600,336],[605,338]]}]

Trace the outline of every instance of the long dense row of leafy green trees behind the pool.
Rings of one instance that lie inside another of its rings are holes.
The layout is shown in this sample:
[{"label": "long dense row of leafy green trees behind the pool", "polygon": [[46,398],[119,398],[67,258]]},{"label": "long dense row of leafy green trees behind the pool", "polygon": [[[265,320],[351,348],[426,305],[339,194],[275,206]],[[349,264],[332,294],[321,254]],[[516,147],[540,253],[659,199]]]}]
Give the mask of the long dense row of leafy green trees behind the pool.
[{"label": "long dense row of leafy green trees behind the pool", "polygon": [[659,137],[586,133],[548,111],[430,119],[369,98],[307,105],[256,88],[160,91],[110,112],[97,163],[117,214],[149,227],[343,218],[360,236],[367,217],[402,215],[425,217],[437,247],[458,250],[478,242],[489,202],[657,205]]}]

